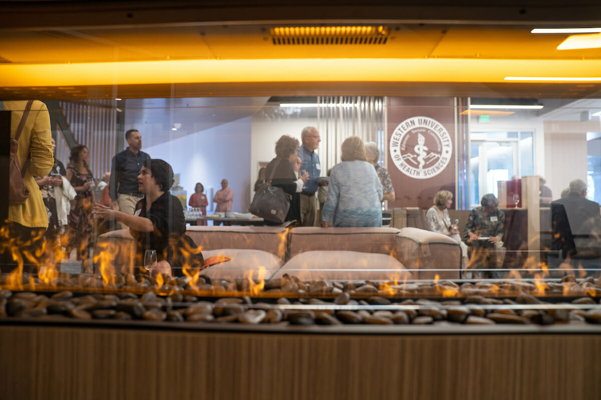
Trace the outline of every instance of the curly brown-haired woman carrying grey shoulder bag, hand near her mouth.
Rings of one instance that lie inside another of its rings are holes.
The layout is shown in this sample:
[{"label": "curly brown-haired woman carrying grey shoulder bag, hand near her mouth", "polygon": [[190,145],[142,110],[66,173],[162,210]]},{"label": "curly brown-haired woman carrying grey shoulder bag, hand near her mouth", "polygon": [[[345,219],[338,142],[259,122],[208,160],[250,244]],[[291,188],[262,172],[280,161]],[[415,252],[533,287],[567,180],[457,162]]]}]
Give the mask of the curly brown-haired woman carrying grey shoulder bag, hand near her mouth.
[{"label": "curly brown-haired woman carrying grey shoulder bag, hand near her mouth", "polygon": [[[301,168],[301,159],[296,157],[299,149],[298,139],[284,135],[275,143],[275,158],[265,167],[265,179],[271,185],[282,188],[290,195],[290,209],[285,221],[301,221],[301,196],[302,187],[309,179],[309,173],[298,176]],[[265,221],[267,225],[275,222]]]}]

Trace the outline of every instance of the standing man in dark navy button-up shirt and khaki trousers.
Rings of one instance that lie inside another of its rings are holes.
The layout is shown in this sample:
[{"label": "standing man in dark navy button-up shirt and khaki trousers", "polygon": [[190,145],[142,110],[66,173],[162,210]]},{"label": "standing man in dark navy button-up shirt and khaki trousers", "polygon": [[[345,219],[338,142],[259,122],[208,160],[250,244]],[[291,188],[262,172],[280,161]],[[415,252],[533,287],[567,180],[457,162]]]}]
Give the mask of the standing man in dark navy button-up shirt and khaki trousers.
[{"label": "standing man in dark navy button-up shirt and khaki trousers", "polygon": [[114,209],[133,215],[136,203],[144,197],[144,194],[138,191],[138,175],[144,161],[148,160],[150,155],[140,151],[142,136],[138,130],[127,131],[125,140],[127,149],[112,159],[109,195]]}]

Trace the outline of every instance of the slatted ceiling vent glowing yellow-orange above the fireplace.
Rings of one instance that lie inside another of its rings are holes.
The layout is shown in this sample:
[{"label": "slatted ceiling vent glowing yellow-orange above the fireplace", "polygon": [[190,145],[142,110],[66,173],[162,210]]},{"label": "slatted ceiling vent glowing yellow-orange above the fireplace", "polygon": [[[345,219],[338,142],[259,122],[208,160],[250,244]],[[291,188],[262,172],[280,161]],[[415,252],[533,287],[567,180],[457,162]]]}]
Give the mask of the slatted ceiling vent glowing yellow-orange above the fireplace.
[{"label": "slatted ceiling vent glowing yellow-orange above the fireplace", "polygon": [[275,45],[385,44],[386,26],[278,26],[270,29]]}]

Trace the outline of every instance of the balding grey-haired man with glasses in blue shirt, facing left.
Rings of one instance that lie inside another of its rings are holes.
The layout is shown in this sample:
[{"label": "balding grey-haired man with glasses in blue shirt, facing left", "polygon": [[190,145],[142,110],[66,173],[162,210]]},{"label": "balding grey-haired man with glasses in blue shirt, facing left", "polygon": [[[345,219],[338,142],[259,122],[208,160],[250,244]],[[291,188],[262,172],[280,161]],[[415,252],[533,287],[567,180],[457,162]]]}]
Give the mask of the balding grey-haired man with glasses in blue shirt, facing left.
[{"label": "balding grey-haired man with glasses in blue shirt, facing left", "polygon": [[316,127],[305,127],[301,132],[302,146],[299,148],[297,157],[301,158],[301,172],[309,173],[309,180],[305,183],[301,192],[301,224],[302,226],[320,226],[319,200],[317,200],[317,178],[322,172],[319,164],[319,155],[315,152],[321,142],[319,131]]}]

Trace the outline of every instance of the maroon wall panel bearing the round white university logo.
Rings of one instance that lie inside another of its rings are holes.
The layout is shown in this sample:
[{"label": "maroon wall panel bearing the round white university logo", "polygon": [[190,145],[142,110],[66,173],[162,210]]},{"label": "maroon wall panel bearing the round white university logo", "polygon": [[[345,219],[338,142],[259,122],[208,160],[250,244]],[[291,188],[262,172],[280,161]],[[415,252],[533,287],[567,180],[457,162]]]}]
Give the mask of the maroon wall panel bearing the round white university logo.
[{"label": "maroon wall panel bearing the round white university logo", "polygon": [[[454,209],[457,173],[453,97],[388,97],[387,128],[388,171],[396,194],[396,200],[389,201],[388,206],[429,208],[436,192],[444,189],[453,193]],[[395,161],[411,176],[401,172]]]}]

